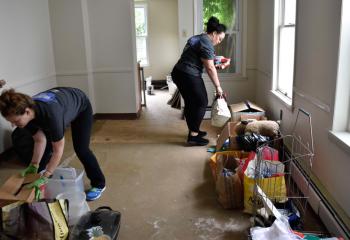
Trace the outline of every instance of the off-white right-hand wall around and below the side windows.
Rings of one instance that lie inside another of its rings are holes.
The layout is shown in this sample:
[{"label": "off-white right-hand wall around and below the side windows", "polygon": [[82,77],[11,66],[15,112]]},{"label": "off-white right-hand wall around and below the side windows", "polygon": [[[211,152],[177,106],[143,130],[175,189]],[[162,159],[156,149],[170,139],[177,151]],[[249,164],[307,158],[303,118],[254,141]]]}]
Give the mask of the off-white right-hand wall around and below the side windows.
[{"label": "off-white right-hand wall around and below the side windows", "polygon": [[[315,159],[313,173],[337,204],[350,216],[349,154],[330,141],[337,59],[341,0],[298,1],[294,106],[292,111],[270,94],[273,56],[273,0],[258,0],[257,101],[272,118],[284,112],[282,129],[290,131],[296,109],[303,108],[313,119]],[[303,131],[307,126],[303,126]]]}]

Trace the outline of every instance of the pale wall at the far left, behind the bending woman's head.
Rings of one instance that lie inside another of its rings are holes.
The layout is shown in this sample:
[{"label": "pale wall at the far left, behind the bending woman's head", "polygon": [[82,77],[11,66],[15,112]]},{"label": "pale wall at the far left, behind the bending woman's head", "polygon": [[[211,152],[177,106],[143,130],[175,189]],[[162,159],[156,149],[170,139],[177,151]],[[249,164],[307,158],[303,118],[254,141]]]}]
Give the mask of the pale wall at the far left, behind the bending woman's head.
[{"label": "pale wall at the far left, behind the bending woman's head", "polygon": [[[0,78],[5,88],[33,95],[56,85],[47,0],[3,0],[0,7]],[[10,125],[0,117],[0,152]]]}]

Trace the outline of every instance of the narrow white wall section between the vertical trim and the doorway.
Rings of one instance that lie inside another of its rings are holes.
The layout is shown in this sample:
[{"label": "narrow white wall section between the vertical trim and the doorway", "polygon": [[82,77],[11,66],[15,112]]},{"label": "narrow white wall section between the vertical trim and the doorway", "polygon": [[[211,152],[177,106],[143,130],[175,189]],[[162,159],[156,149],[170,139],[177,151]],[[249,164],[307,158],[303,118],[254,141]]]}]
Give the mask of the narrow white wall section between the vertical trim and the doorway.
[{"label": "narrow white wall section between the vertical trim and the doorway", "polygon": [[133,1],[88,0],[96,108],[136,113]]}]

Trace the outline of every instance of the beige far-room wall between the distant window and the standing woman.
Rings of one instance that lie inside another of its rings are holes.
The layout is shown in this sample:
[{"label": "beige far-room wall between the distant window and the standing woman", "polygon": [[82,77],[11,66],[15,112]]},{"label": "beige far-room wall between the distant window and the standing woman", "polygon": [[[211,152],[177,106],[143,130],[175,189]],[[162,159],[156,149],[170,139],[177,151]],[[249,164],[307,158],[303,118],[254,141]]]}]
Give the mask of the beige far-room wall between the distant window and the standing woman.
[{"label": "beige far-room wall between the distant window and the standing woman", "polygon": [[149,61],[145,76],[165,79],[179,58],[177,0],[148,1]]}]

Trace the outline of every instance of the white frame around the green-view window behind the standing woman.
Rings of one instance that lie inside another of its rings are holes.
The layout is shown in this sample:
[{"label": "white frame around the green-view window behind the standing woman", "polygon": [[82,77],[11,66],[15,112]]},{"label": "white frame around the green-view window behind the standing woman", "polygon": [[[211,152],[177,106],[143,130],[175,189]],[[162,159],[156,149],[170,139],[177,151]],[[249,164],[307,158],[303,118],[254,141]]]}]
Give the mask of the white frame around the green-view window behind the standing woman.
[{"label": "white frame around the green-view window behind the standing woman", "polygon": [[[237,6],[237,22],[236,29],[228,30],[226,34],[236,34],[236,71],[234,73],[220,72],[218,71],[219,78],[221,80],[232,80],[237,77],[246,77],[246,39],[247,39],[247,1],[234,0]],[[194,1],[194,34],[200,34],[203,32],[203,0]],[[205,73],[205,78],[209,78]]]}]

